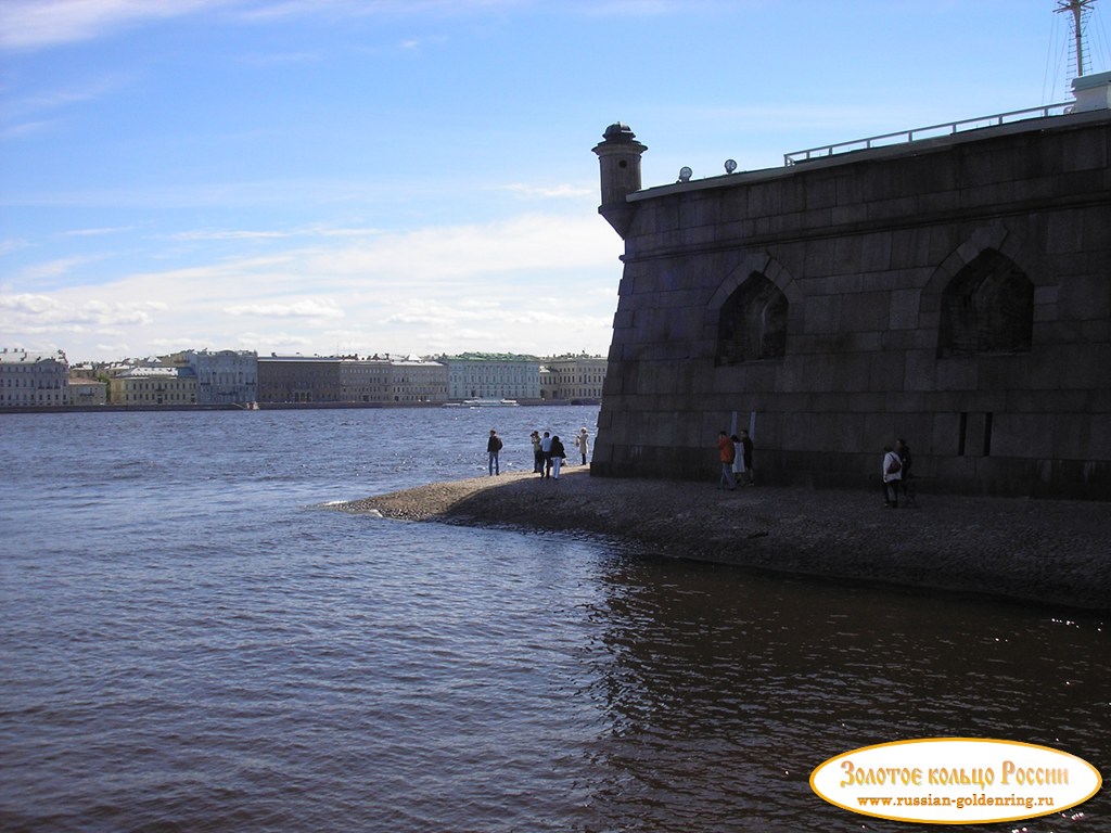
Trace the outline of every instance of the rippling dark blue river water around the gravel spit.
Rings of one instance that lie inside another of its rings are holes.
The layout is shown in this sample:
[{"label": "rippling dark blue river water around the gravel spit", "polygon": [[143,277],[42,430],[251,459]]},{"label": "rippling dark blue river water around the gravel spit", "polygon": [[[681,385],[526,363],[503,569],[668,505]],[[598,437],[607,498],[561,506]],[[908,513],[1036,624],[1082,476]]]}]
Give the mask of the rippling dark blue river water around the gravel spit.
[{"label": "rippling dark blue river water around the gravel spit", "polygon": [[0,416],[0,829],[905,831],[811,770],[985,736],[1109,771],[1100,616],[327,508],[597,414]]}]

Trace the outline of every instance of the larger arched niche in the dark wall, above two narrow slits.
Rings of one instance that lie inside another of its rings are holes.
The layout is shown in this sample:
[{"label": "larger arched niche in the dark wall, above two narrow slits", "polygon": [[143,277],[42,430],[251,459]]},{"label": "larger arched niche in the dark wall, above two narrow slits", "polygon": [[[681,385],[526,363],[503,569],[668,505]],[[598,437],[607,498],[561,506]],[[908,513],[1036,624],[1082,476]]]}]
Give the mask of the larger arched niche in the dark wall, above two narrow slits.
[{"label": "larger arched niche in the dark wall, above two narrow slits", "polygon": [[1034,285],[1010,258],[985,249],[945,285],[938,355],[1029,352]]}]

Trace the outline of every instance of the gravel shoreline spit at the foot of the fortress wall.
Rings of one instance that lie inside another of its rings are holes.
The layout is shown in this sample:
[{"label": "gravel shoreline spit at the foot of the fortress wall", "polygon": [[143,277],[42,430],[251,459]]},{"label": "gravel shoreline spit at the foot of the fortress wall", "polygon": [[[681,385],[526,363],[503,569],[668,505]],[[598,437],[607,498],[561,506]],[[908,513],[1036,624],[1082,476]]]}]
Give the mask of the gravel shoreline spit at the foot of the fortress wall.
[{"label": "gravel shoreline spit at the foot of the fortress wall", "polygon": [[675,558],[1111,611],[1111,506],[531,473],[337,506],[409,521],[585,532]]}]

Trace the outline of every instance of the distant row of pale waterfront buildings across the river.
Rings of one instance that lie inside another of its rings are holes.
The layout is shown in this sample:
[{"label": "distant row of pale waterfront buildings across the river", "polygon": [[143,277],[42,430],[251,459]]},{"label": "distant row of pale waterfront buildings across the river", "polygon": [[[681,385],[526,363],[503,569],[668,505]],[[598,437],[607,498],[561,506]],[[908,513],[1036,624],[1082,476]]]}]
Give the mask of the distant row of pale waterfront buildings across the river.
[{"label": "distant row of pale waterfront buildings across the river", "polygon": [[466,353],[418,359],[187,350],[119,363],[70,365],[66,354],[0,351],[0,409],[253,403],[434,404],[469,399],[599,401],[597,355]]}]

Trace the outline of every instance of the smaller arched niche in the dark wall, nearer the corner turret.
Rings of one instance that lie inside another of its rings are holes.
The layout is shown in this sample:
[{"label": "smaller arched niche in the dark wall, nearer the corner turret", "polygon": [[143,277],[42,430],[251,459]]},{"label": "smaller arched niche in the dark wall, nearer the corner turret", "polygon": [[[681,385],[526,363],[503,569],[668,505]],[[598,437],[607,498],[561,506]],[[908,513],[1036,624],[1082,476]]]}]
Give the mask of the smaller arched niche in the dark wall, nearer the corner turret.
[{"label": "smaller arched niche in the dark wall, nearer the corner turret", "polygon": [[782,358],[787,319],[787,295],[763,273],[750,273],[721,304],[717,363]]}]

